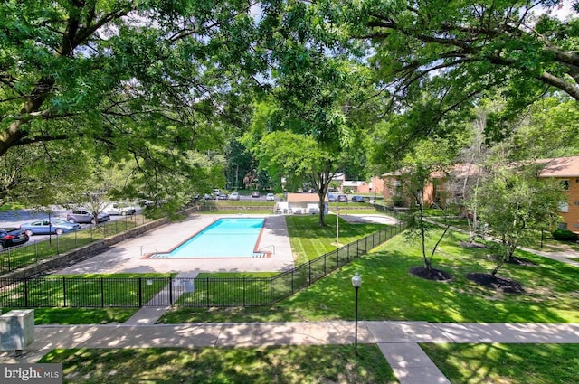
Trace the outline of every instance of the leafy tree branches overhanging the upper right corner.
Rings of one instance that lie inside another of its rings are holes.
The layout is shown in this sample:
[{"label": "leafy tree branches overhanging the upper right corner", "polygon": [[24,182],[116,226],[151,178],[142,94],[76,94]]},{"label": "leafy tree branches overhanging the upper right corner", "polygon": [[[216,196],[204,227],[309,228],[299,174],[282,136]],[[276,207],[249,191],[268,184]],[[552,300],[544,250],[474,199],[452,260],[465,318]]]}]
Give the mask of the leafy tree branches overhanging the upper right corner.
[{"label": "leafy tree branches overhanging the upper right corner", "polygon": [[579,100],[577,5],[563,19],[557,11],[564,5],[368,0],[339,7],[348,11],[342,15],[352,35],[370,41],[372,62],[401,96],[442,79],[452,84],[443,96],[455,102],[505,85],[512,100],[547,89]]}]

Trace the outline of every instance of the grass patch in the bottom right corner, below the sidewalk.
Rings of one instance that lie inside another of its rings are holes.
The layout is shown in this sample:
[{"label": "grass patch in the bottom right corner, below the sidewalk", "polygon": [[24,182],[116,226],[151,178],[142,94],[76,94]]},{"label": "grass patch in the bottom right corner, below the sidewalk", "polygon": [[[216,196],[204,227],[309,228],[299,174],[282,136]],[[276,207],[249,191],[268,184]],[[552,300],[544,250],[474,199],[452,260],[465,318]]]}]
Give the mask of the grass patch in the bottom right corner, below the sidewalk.
[{"label": "grass patch in the bottom right corner, below the sidewalk", "polygon": [[578,344],[421,344],[460,384],[571,384],[579,378]]}]

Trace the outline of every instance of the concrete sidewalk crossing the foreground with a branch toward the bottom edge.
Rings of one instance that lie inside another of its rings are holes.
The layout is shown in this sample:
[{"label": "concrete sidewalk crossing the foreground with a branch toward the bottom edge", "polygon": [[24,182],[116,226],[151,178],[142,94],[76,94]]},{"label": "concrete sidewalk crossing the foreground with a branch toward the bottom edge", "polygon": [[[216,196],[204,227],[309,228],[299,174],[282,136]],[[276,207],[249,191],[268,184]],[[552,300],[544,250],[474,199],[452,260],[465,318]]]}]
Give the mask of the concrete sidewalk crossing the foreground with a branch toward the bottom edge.
[{"label": "concrete sidewalk crossing the foreground with a branch toward the bottom edge", "polygon": [[[251,347],[354,344],[354,322],[37,325],[22,357],[36,362],[55,348]],[[419,342],[579,343],[579,324],[358,322],[358,342],[375,343],[403,384],[449,383]]]}]

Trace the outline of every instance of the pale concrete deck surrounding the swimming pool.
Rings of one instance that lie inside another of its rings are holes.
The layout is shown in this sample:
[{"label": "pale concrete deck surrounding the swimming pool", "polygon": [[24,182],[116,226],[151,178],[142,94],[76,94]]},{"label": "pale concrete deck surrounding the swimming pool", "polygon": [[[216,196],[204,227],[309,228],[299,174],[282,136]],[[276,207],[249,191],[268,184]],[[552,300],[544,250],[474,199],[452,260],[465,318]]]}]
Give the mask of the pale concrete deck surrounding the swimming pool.
[{"label": "pale concrete deck surrounding the swimming pool", "polygon": [[[168,251],[195,233],[222,218],[266,218],[259,248],[271,251],[270,258],[143,258]],[[55,275],[91,273],[179,273],[196,276],[200,272],[281,272],[294,267],[288,228],[283,215],[193,215],[185,220],[150,230],[127,239],[97,256],[61,269]]]}]

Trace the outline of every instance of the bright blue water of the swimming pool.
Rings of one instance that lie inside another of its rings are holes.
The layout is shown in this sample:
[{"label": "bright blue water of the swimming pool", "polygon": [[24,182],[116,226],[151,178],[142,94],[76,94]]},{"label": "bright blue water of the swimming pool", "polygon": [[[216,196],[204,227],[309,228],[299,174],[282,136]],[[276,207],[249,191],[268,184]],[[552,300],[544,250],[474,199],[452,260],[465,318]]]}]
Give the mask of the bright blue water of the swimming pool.
[{"label": "bright blue water of the swimming pool", "polygon": [[170,252],[148,258],[253,258],[264,219],[219,219]]}]

